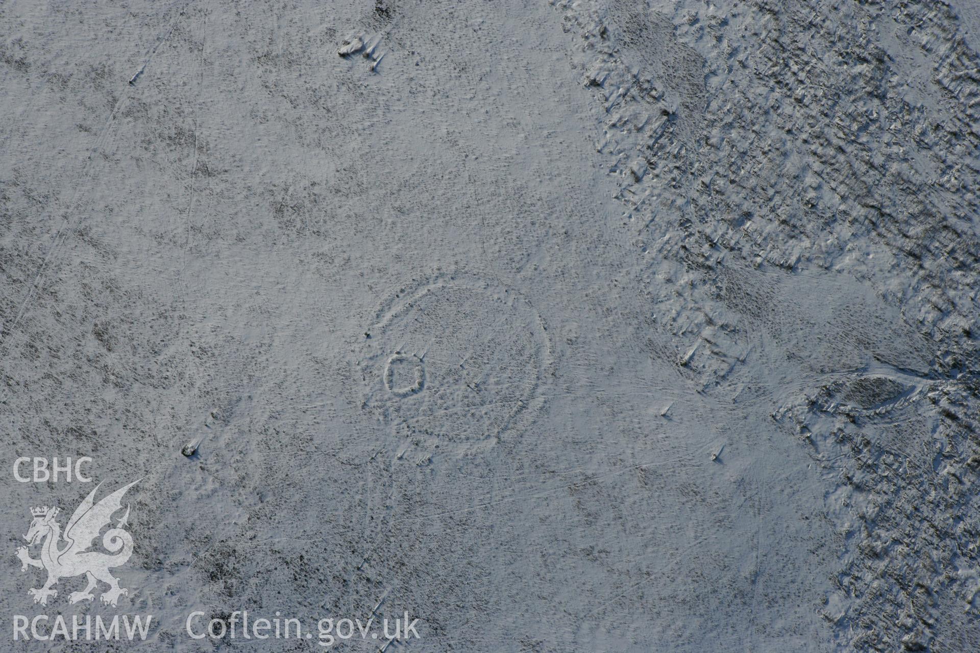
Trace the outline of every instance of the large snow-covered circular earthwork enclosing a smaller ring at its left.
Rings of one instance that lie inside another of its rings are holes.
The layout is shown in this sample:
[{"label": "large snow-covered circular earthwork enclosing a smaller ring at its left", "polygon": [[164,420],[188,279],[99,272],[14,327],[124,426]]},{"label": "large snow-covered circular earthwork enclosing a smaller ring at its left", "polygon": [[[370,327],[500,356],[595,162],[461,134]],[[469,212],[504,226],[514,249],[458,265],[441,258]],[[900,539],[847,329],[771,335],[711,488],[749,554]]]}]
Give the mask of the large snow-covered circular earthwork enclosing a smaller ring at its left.
[{"label": "large snow-covered circular earthwork enclosing a smaller ring at its left", "polygon": [[526,425],[541,403],[548,339],[515,291],[426,286],[370,329],[365,405],[398,429],[483,440]]}]

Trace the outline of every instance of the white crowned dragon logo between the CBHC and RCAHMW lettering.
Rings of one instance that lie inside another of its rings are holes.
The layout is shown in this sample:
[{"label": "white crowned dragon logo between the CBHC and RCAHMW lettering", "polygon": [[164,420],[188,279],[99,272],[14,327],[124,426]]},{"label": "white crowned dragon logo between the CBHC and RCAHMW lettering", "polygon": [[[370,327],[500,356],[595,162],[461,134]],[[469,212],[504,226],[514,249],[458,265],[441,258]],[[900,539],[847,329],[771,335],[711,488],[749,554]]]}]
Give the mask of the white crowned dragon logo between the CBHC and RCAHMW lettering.
[{"label": "white crowned dragon logo between the CBHC and RCAHMW lettering", "polygon": [[30,523],[30,529],[24,538],[30,546],[43,541],[41,557],[37,560],[31,558],[26,546],[17,549],[17,557],[21,559],[22,572],[26,571],[28,566],[45,569],[48,572],[48,580],[44,586],[40,589],[27,590],[27,593],[34,597],[34,603],[47,605],[48,596],[58,595],[58,591],[52,589],[52,585],[58,583],[59,579],[80,576],[81,574],[85,575],[88,585],[81,591],[72,592],[69,596],[71,603],[83,600],[91,601],[95,598],[92,595],[92,590],[95,589],[97,581],[109,585],[109,589],[101,596],[102,602],[106,605],[115,606],[121,595],[128,595],[129,590],[120,587],[120,580],[110,574],[109,569],[123,565],[132,555],[132,536],[123,530],[123,526],[126,525],[126,520],[129,518],[129,507],[126,506],[125,514],[116,523],[116,528],[109,529],[102,536],[102,545],[110,553],[86,549],[92,546],[103,528],[111,526],[113,513],[123,507],[122,500],[125,490],[129,490],[137,483],[139,480],[123,486],[98,503],[93,500],[95,491],[99,489],[98,486],[89,492],[81,505],[75,509],[72,519],[68,520],[64,546],[60,546],[61,527],[55,521],[58,508],[44,506],[30,509],[34,521]]}]

